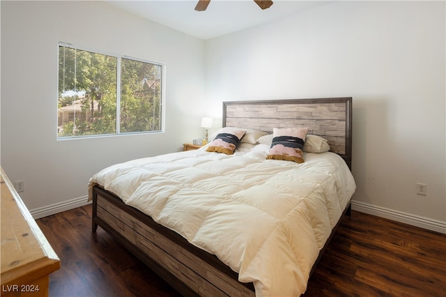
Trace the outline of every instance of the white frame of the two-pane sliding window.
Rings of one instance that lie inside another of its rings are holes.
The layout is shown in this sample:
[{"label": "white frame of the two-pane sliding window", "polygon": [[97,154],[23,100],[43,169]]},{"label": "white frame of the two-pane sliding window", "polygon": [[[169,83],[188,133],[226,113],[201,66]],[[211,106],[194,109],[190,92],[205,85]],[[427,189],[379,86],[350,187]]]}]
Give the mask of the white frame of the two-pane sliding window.
[{"label": "white frame of the two-pane sliding window", "polygon": [[[115,133],[107,133],[107,134],[94,134],[94,135],[74,135],[74,136],[60,136],[59,132],[56,129],[56,139],[59,141],[69,140],[69,139],[88,139],[88,138],[97,138],[97,137],[117,137],[123,135],[148,135],[153,133],[164,133],[165,125],[166,125],[166,63],[151,61],[141,58],[134,58],[133,56],[127,56],[124,54],[116,54],[112,52],[106,52],[101,50],[92,50],[89,47],[82,47],[78,45],[73,45],[72,43],[64,43],[59,42],[57,45],[57,73],[59,73],[59,48],[60,47],[70,47],[74,50],[82,50],[86,52],[92,52],[94,54],[103,54],[107,56],[113,56],[117,59],[116,65],[116,132]],[[151,63],[155,66],[160,66],[161,75],[160,75],[160,130],[153,131],[137,131],[137,132],[121,132],[121,123],[120,123],[120,115],[121,115],[121,61],[122,59],[130,59],[133,61],[140,61],[143,63]],[[57,75],[57,100],[59,102],[59,74]],[[56,111],[56,126],[59,126],[59,107],[57,107]]]}]

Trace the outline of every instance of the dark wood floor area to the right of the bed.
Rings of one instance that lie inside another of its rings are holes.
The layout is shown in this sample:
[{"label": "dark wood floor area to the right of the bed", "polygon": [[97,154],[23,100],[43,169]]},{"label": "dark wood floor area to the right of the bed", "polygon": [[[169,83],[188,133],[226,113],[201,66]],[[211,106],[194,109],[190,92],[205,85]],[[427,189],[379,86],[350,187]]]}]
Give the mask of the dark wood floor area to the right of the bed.
[{"label": "dark wood floor area to the right of the bed", "polygon": [[445,243],[445,234],[352,211],[305,296],[446,296]]}]

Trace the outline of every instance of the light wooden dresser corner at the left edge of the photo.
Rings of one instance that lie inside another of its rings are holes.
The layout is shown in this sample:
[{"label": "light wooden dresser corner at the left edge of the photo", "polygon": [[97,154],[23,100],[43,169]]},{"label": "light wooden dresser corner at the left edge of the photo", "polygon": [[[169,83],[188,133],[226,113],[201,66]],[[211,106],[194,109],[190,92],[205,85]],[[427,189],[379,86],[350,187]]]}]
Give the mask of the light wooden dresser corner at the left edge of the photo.
[{"label": "light wooden dresser corner at the left edge of the photo", "polygon": [[1,296],[48,296],[59,257],[1,168]]}]

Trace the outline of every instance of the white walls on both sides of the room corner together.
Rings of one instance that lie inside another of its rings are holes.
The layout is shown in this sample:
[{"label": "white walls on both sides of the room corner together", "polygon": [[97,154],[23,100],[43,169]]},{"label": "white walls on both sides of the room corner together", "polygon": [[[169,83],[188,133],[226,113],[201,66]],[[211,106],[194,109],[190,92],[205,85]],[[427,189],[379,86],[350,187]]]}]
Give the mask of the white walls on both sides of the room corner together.
[{"label": "white walls on both sides of the room corner together", "polygon": [[[355,208],[445,231],[445,22],[444,1],[334,1],[204,42],[96,1],[1,1],[1,165],[56,212],[99,169],[180,150],[224,100],[352,96]],[[59,41],[166,63],[166,132],[57,141]]]}]

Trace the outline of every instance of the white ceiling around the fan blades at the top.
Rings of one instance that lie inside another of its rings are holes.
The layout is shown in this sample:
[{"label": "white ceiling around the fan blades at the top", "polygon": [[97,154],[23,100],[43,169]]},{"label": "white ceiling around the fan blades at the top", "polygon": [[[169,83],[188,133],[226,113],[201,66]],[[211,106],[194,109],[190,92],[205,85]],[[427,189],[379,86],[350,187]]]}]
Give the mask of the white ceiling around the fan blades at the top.
[{"label": "white ceiling around the fan blades at the top", "polygon": [[207,40],[271,22],[325,5],[331,1],[273,0],[261,10],[253,0],[211,0],[205,11],[194,10],[198,0],[106,1],[135,15]]}]

